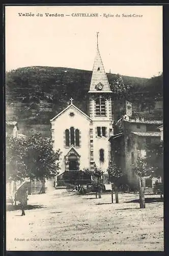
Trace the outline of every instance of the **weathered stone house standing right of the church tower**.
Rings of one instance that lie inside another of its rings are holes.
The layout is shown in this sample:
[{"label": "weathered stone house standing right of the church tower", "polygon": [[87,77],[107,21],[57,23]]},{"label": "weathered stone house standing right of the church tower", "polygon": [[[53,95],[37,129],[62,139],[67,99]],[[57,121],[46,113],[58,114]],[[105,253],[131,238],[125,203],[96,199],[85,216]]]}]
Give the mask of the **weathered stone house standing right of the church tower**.
[{"label": "weathered stone house standing right of the church tower", "polygon": [[[144,118],[123,119],[123,132],[111,136],[111,159],[117,163],[127,175],[131,185],[137,184],[137,177],[132,171],[131,165],[136,163],[138,155],[148,156],[150,144],[159,143],[160,132],[158,126],[162,124],[159,120],[144,120]],[[161,127],[161,126],[160,126]],[[151,161],[156,160],[156,154],[151,152]],[[161,163],[158,163],[163,168]],[[144,186],[153,186],[157,178],[144,178]],[[159,179],[161,181],[161,179]]]}]

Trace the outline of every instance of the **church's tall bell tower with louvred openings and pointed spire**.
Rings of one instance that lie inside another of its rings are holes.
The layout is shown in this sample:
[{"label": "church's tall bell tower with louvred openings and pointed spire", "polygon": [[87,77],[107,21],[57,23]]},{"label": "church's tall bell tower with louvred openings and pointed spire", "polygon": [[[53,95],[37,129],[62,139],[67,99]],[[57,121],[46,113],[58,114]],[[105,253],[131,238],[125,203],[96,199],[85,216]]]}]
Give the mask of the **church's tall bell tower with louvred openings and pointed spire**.
[{"label": "church's tall bell tower with louvred openings and pointed spire", "polygon": [[100,56],[97,32],[97,49],[89,90],[89,116],[93,120],[90,129],[91,164],[94,162],[106,171],[110,162],[109,137],[112,130],[111,90]]}]

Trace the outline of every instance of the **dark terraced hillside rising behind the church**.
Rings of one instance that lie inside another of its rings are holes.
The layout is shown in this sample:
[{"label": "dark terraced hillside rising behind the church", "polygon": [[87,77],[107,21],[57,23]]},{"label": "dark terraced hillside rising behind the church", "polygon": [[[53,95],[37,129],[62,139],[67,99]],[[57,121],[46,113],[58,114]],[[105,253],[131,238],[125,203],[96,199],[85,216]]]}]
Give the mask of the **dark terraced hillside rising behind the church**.
[{"label": "dark terraced hillside rising behind the church", "polygon": [[[49,120],[62,111],[73,97],[74,104],[87,113],[88,91],[92,71],[56,68],[26,67],[6,74],[6,119],[16,120],[23,126],[49,124]],[[116,90],[118,75],[107,74],[112,98],[125,97],[139,100],[142,94],[153,99],[162,95],[162,76],[139,78],[122,76],[125,95]],[[118,106],[117,106],[118,107]]]}]

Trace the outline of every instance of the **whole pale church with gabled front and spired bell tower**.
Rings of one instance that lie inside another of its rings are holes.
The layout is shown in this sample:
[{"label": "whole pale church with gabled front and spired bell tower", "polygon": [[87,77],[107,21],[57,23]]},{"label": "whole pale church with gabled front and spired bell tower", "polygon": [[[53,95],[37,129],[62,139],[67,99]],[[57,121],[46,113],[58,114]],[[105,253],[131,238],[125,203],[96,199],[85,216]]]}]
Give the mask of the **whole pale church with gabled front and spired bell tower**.
[{"label": "whole pale church with gabled front and spired bell tower", "polygon": [[103,172],[111,160],[110,136],[112,128],[111,90],[101,59],[98,41],[93,73],[88,92],[88,115],[77,108],[73,99],[51,122],[53,150],[60,148],[60,175],[83,168]]}]

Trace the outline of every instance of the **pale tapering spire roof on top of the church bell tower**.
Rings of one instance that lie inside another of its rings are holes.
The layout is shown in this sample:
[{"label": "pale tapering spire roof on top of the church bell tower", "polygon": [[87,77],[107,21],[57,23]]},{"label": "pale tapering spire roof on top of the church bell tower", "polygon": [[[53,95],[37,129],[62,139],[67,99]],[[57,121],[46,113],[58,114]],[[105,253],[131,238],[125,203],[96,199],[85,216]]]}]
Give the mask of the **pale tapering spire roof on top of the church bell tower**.
[{"label": "pale tapering spire roof on top of the church bell tower", "polygon": [[[96,86],[101,83],[103,88],[101,91],[96,90]],[[91,85],[90,85],[90,91],[89,92],[108,92],[111,93],[110,86],[108,83],[107,75],[104,71],[103,62],[101,60],[99,49],[97,48],[97,53],[94,61],[93,66],[93,73],[92,73],[92,79],[91,79]]]}]

